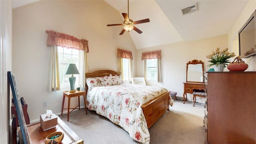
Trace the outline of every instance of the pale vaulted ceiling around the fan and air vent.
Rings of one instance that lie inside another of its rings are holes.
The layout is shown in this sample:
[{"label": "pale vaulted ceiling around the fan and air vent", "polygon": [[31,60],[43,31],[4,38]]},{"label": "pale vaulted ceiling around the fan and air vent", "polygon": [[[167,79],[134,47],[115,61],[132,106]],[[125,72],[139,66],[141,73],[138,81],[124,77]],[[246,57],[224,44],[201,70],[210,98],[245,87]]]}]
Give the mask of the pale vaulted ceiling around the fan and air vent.
[{"label": "pale vaulted ceiling around the fan and air vent", "polygon": [[[38,0],[13,0],[13,8]],[[120,13],[128,13],[127,0],[104,0]],[[22,4],[23,2],[23,4]],[[129,18],[142,31],[129,32],[137,49],[228,34],[248,0],[129,0]],[[182,15],[180,9],[197,4],[198,10]],[[109,24],[120,24],[112,22]],[[123,26],[119,26],[120,31]],[[122,35],[120,35],[122,36]]]}]

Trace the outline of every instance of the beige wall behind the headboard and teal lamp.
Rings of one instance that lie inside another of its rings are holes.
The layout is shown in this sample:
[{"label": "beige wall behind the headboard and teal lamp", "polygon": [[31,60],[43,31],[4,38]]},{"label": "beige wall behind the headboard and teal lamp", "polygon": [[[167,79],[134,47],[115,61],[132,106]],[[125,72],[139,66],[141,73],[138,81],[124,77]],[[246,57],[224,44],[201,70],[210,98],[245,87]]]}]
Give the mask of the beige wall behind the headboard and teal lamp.
[{"label": "beige wall behind the headboard and teal lamp", "polygon": [[[20,97],[28,104],[30,121],[39,119],[46,110],[61,112],[62,89],[48,92],[50,50],[47,33],[54,30],[89,41],[89,70],[118,70],[117,48],[133,52],[136,72],[136,48],[129,34],[119,35],[122,26],[107,24],[122,22],[119,12],[102,0],[43,0],[13,10],[13,72]],[[43,107],[43,102],[48,106]],[[67,107],[67,99],[65,107]],[[77,99],[71,99],[77,106]],[[84,106],[83,99],[80,101]]]}]

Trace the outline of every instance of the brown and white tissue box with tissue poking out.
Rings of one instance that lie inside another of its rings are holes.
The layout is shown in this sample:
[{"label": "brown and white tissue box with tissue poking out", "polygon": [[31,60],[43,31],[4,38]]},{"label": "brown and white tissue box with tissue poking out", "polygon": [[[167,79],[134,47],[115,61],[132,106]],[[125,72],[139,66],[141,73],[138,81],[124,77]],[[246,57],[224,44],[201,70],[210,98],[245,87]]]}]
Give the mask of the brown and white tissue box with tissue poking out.
[{"label": "brown and white tissue box with tissue poking out", "polygon": [[57,116],[55,114],[52,114],[50,118],[48,118],[46,114],[41,114],[40,123],[41,123],[41,128],[44,131],[55,128],[56,125],[58,124]]}]

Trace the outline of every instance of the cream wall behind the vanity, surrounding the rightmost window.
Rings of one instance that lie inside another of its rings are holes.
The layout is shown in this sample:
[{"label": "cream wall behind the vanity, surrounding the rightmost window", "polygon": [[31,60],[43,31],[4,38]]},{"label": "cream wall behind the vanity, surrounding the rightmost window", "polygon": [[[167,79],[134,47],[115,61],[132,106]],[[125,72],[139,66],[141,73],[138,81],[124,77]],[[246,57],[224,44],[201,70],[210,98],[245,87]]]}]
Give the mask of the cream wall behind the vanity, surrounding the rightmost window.
[{"label": "cream wall behind the vanity, surrounding the rightmost window", "polygon": [[[217,47],[224,49],[228,47],[228,35],[217,36],[191,42],[178,42],[155,46],[147,49],[137,50],[137,76],[144,76],[144,60],[141,60],[142,52],[161,50],[162,54],[162,83],[147,82],[148,85],[162,86],[170,91],[177,92],[177,96],[183,96],[183,82],[186,82],[186,64],[194,59],[204,62],[204,71],[208,71],[208,59],[206,55],[211,54]],[[231,50],[229,50],[231,52]],[[192,95],[187,94],[192,100]]]}]

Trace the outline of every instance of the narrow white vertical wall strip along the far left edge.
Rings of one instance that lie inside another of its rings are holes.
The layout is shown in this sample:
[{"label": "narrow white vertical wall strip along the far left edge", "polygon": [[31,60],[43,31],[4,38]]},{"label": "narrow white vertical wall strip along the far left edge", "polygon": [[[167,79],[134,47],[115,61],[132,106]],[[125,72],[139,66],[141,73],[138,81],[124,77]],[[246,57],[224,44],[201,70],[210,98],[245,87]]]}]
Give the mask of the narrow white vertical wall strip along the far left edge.
[{"label": "narrow white vertical wall strip along the far left edge", "polygon": [[12,70],[12,4],[0,1],[0,143],[9,143],[10,97],[8,96],[7,71]]}]

